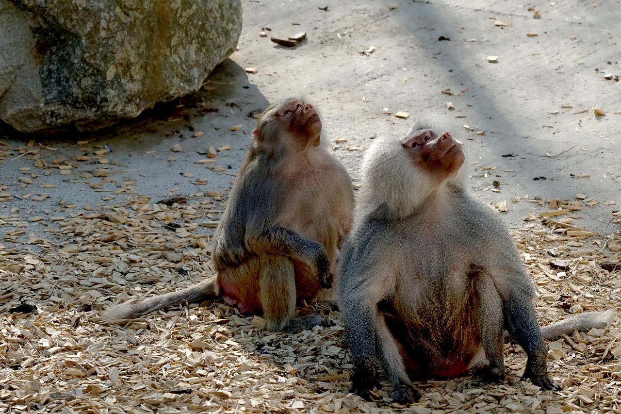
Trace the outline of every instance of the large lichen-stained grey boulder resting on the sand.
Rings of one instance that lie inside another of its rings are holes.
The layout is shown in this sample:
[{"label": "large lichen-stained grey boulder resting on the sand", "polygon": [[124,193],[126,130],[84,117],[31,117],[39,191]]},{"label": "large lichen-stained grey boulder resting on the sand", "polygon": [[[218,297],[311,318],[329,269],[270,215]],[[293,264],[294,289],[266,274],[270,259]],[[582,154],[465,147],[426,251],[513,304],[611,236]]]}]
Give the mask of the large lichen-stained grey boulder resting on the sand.
[{"label": "large lichen-stained grey boulder resting on the sand", "polygon": [[0,119],[88,131],[201,88],[241,0],[0,0]]}]

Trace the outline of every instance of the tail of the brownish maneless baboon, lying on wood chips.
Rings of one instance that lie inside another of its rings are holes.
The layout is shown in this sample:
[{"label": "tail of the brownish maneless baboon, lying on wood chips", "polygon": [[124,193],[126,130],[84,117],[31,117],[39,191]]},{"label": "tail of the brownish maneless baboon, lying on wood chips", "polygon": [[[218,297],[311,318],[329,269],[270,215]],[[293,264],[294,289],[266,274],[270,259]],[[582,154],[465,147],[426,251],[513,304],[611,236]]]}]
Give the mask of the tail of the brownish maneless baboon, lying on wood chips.
[{"label": "tail of the brownish maneless baboon, lying on wood chips", "polygon": [[211,276],[201,283],[131,303],[121,303],[107,308],[102,317],[110,323],[116,323],[125,319],[138,318],[155,310],[176,306],[181,303],[194,303],[208,298],[220,296],[220,285],[217,276]]}]

